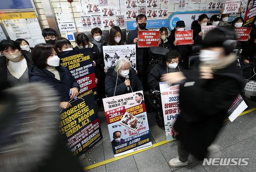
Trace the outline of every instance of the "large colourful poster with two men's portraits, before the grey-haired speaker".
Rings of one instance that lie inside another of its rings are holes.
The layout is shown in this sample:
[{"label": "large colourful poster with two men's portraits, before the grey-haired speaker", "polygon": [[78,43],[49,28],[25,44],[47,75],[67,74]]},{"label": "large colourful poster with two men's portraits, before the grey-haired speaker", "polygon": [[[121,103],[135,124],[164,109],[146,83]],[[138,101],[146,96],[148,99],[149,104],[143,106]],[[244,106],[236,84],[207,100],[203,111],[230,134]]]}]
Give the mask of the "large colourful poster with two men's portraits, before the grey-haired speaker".
[{"label": "large colourful poster with two men's portraits, before the grey-haired speaker", "polygon": [[152,146],[143,91],[103,99],[114,156]]}]

